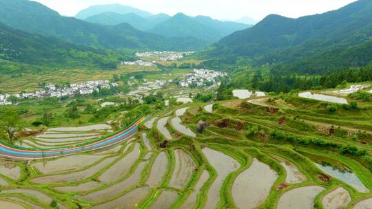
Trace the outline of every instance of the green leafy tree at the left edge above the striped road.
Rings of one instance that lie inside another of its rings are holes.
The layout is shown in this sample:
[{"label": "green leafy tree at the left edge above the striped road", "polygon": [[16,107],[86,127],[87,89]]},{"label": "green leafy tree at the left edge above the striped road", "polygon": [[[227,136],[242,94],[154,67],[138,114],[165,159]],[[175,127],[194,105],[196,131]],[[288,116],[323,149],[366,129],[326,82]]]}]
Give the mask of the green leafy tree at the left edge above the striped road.
[{"label": "green leafy tree at the left edge above the striped road", "polygon": [[0,133],[2,137],[13,144],[17,133],[22,130],[21,118],[15,110],[7,110],[0,113]]}]

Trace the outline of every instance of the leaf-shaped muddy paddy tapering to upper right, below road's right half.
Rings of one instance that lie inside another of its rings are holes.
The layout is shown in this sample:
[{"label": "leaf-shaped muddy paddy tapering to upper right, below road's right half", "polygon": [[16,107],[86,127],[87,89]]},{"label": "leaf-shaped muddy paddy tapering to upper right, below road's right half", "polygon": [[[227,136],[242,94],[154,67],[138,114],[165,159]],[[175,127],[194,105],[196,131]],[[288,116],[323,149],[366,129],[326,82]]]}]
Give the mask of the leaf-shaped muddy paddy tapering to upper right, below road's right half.
[{"label": "leaf-shaped muddy paddy tapering to upper right, below road's right half", "polygon": [[121,177],[124,177],[138,159],[141,153],[140,146],[141,145],[137,143],[132,152],[108,168],[105,173],[99,177],[99,180],[103,181],[104,183],[110,183],[121,179]]}]

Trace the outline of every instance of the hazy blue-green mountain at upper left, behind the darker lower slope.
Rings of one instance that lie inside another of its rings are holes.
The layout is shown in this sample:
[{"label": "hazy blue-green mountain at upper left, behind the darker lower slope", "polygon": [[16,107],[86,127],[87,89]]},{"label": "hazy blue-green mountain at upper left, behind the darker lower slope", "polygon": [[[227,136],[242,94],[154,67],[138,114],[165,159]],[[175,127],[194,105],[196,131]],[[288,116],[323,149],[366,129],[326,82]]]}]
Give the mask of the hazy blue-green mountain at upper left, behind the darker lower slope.
[{"label": "hazy blue-green mountain at upper left, behind the darker lower slope", "polygon": [[27,0],[0,0],[0,22],[25,32],[54,36],[91,47],[196,50],[206,45],[205,41],[197,39],[167,39],[149,34],[136,30],[127,23],[116,26],[98,25],[62,17],[40,3]]}]

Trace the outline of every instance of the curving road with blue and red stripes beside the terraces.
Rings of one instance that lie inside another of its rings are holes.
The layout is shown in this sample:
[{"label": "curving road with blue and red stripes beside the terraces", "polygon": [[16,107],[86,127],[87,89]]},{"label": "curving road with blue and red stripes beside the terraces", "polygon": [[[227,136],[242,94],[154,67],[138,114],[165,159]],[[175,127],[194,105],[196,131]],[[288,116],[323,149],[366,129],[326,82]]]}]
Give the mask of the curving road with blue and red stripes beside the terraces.
[{"label": "curving road with blue and red stripes beside the terraces", "polygon": [[82,151],[96,151],[103,148],[110,147],[114,144],[118,144],[127,140],[132,135],[138,132],[138,124],[148,120],[151,115],[147,117],[143,117],[140,120],[134,122],[129,128],[117,133],[116,135],[112,135],[111,137],[107,137],[104,140],[100,140],[97,142],[92,142],[90,144],[84,144],[81,146],[76,146],[72,148],[63,148],[63,147],[56,147],[48,150],[43,149],[30,149],[30,148],[23,148],[23,147],[12,147],[4,144],[0,144],[0,157],[6,157],[10,159],[21,159],[21,160],[30,160],[30,159],[45,159],[51,157],[59,157],[64,155],[71,155],[74,153],[79,153]]}]

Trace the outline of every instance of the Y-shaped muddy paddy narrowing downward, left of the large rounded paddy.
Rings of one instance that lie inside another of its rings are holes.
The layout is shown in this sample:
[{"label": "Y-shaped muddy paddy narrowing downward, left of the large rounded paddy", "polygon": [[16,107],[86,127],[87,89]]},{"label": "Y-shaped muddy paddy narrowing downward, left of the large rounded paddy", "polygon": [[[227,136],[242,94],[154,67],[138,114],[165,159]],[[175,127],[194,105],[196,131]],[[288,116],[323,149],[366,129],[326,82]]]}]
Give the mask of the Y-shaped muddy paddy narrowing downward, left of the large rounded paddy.
[{"label": "Y-shaped muddy paddy narrowing downward, left of the large rounded paddy", "polygon": [[208,199],[205,208],[215,208],[220,203],[220,189],[227,175],[240,167],[236,159],[214,151],[210,148],[203,148],[203,153],[207,157],[209,164],[216,169],[218,175],[208,190]]}]

